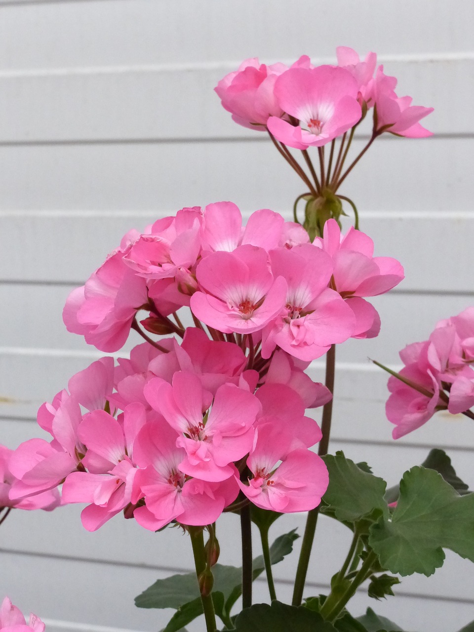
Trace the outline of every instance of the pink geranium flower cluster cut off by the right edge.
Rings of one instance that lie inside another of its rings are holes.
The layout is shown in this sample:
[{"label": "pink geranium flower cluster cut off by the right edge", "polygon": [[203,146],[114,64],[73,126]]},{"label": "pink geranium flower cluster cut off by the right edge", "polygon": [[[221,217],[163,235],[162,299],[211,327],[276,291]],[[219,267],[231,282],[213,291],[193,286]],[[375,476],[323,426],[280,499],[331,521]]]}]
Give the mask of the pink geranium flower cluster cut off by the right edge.
[{"label": "pink geranium flower cluster cut off by the right edge", "polygon": [[[440,320],[427,341],[400,351],[404,368],[389,378],[387,418],[394,439],[427,422],[436,411],[467,413],[474,405],[474,307]],[[472,415],[474,417],[474,415]]]}]

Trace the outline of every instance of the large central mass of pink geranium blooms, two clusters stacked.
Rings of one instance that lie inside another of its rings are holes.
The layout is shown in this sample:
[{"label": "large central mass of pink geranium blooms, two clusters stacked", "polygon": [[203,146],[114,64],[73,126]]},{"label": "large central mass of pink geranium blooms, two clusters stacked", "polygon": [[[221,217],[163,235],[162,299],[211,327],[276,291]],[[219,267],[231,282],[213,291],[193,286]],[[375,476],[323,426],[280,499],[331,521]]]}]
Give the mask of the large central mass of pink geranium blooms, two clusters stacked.
[{"label": "large central mass of pink geranium blooms, two clusters stacked", "polygon": [[[88,503],[88,530],[119,511],[150,530],[207,525],[239,492],[279,512],[317,506],[327,470],[305,408],[331,393],[305,368],[332,344],[377,335],[363,297],[392,288],[403,269],[373,248],[334,220],[310,243],[269,209],[243,228],[231,202],[128,233],[71,293],[64,322],[103,351],[119,349],[131,328],[145,343],[117,365],[92,363],[43,404],[38,422],[52,441],[31,439],[11,456],[9,497],[63,483],[63,503]],[[183,307],[194,327],[181,324]]]}]

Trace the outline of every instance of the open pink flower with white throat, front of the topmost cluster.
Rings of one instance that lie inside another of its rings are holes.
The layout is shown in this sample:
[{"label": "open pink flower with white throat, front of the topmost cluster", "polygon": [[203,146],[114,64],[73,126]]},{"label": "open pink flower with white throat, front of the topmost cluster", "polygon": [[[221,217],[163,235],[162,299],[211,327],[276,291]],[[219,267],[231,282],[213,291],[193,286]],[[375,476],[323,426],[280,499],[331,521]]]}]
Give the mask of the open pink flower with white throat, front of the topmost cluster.
[{"label": "open pink flower with white throat, front of the topmost cluster", "polygon": [[292,68],[276,80],[275,95],[283,111],[299,124],[271,116],[267,127],[277,140],[295,149],[321,147],[362,116],[358,83],[344,68]]}]

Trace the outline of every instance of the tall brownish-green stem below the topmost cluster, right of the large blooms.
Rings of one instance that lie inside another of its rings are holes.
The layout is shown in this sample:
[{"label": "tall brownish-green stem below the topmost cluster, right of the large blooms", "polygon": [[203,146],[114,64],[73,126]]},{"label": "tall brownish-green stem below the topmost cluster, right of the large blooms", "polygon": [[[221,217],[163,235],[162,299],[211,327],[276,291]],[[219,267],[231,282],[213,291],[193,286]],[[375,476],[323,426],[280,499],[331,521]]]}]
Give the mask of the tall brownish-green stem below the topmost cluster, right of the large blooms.
[{"label": "tall brownish-green stem below the topmost cluster, right of the large blooms", "polygon": [[[331,348],[326,354],[326,376],[325,385],[334,393],[334,371],[336,367],[336,345],[332,344]],[[322,439],[319,442],[319,456],[327,454],[327,447],[329,446],[329,433],[331,432],[331,417],[332,417],[332,398],[327,404],[324,404],[322,410]],[[319,506],[315,507],[311,511],[308,511],[308,518],[306,521],[305,533],[303,535],[303,542],[301,543],[300,559],[298,559],[298,568],[296,569],[295,588],[293,589],[293,605],[300,605],[301,599],[303,599],[303,590],[305,589],[305,581],[308,573],[308,566],[310,563],[311,549],[313,548],[314,534],[316,531],[316,524],[319,515]]]}]

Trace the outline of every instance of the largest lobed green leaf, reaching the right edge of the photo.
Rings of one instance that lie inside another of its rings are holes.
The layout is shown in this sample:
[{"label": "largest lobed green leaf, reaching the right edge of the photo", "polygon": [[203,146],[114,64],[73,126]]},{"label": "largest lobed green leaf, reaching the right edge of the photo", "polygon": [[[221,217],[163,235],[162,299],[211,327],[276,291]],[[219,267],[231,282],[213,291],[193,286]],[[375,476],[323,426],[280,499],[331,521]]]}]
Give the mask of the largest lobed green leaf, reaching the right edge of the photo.
[{"label": "largest lobed green leaf, reaching the right edge of the photo", "polygon": [[368,542],[382,566],[401,575],[431,575],[443,548],[474,562],[474,494],[459,496],[441,474],[411,468],[391,519],[372,525]]}]

